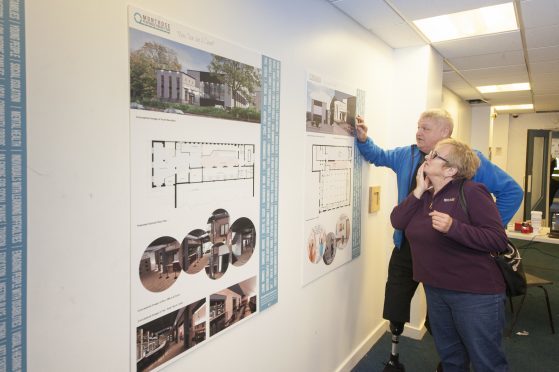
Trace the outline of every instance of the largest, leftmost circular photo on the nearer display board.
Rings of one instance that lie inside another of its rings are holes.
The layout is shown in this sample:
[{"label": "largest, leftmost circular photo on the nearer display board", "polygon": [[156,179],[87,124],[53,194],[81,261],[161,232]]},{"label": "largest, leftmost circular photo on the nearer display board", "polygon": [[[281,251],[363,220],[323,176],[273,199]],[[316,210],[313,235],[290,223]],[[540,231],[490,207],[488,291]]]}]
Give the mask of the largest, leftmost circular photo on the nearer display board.
[{"label": "largest, leftmost circular photo on the nearer display board", "polygon": [[151,242],[139,265],[140,281],[145,289],[161,292],[173,285],[182,272],[179,251],[179,242],[170,236]]}]

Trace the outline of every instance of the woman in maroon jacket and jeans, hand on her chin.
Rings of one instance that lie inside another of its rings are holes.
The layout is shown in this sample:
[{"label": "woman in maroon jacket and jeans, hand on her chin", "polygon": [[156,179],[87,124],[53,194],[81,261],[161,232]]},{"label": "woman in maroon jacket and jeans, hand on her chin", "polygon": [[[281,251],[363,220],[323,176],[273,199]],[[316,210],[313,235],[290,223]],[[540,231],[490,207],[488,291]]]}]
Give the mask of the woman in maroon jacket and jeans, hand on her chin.
[{"label": "woman in maroon jacket and jeans, hand on her chin", "polygon": [[[417,172],[417,186],[392,211],[405,230],[413,275],[423,283],[429,320],[444,371],[508,371],[502,348],[505,283],[491,252],[507,236],[493,198],[472,178],[479,159],[470,147],[445,139]],[[460,204],[460,185],[467,211]]]}]

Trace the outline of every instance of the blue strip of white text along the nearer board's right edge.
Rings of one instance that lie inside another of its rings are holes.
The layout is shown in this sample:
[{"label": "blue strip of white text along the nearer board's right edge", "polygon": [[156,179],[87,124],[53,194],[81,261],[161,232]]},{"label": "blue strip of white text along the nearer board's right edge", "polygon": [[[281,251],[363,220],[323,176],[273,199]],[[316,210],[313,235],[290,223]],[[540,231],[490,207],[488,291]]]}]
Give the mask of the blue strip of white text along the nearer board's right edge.
[{"label": "blue strip of white text along the nearer board's right edge", "polygon": [[262,56],[260,311],[278,302],[280,72],[280,61]]}]

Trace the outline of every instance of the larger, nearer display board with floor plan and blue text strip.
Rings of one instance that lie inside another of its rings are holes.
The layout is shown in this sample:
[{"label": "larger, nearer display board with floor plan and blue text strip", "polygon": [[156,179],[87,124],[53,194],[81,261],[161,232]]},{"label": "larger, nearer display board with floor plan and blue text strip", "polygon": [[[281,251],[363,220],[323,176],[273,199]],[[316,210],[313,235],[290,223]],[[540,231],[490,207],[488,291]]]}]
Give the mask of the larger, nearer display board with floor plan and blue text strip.
[{"label": "larger, nearer display board with floor plan and blue text strip", "polygon": [[131,362],[147,371],[277,302],[280,63],[128,19]]}]

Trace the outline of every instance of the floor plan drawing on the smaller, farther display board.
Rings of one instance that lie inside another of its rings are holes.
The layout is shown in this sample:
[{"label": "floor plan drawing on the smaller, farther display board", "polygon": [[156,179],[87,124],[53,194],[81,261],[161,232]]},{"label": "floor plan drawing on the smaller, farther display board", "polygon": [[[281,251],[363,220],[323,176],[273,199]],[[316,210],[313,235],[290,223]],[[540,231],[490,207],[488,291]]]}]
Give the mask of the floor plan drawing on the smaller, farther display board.
[{"label": "floor plan drawing on the smaller, farther display board", "polygon": [[319,213],[351,204],[352,158],[351,146],[313,145],[312,172],[319,172]]}]

